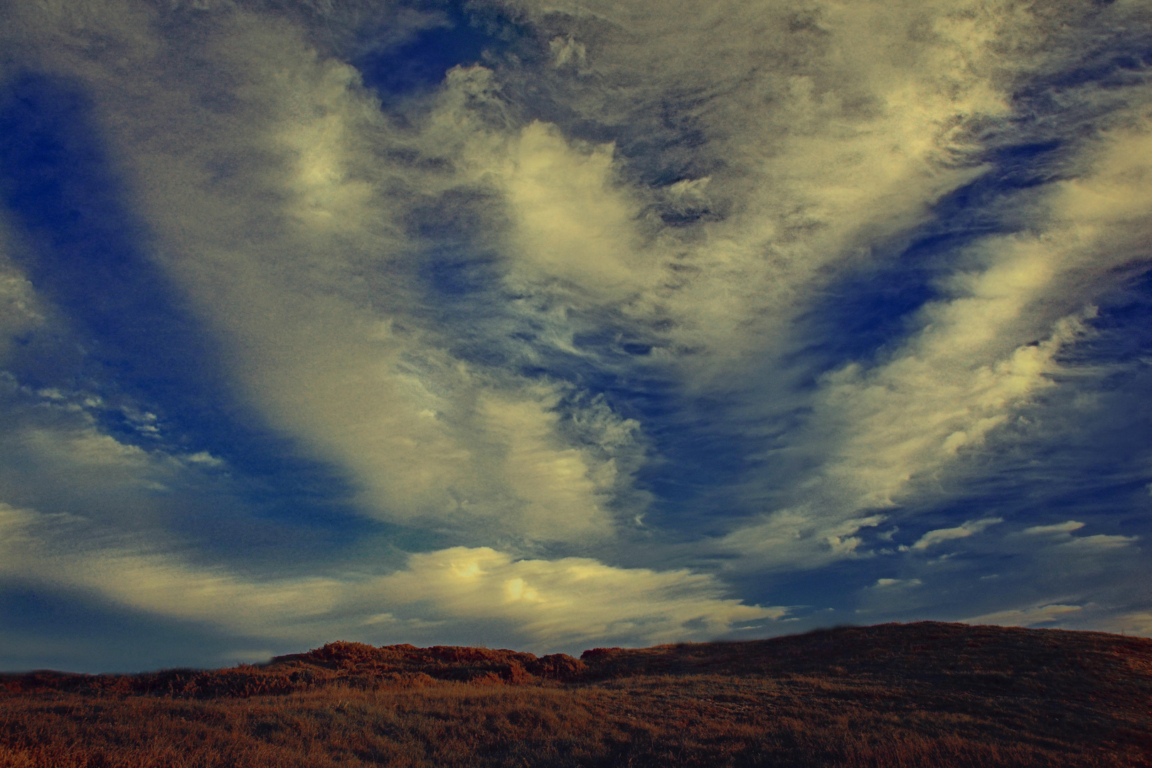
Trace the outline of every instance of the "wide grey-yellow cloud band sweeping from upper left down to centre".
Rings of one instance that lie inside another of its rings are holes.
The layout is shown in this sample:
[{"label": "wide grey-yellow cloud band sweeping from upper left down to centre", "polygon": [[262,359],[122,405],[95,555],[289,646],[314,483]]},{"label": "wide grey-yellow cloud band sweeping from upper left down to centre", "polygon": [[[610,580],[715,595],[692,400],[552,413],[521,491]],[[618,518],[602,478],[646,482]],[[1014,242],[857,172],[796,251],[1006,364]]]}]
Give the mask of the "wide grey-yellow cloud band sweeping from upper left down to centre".
[{"label": "wide grey-yellow cloud band sweeping from upper left down to centre", "polygon": [[[205,20],[199,38],[132,29],[182,55],[130,47],[147,73],[130,98],[100,66],[68,53],[47,63],[94,92],[164,243],[157,258],[219,333],[243,396],[350,474],[374,518],[530,543],[611,537],[619,516],[642,511],[627,487],[642,456],[635,421],[602,400],[585,413],[563,382],[462,359],[418,318],[425,244],[411,219],[449,191],[475,192],[444,161],[453,142],[437,142],[445,122],[460,121],[456,145],[476,132],[453,112],[465,86],[449,82],[432,126],[404,135],[356,70],[300,30],[238,9]],[[187,69],[192,51],[207,70]],[[218,76],[235,84],[227,94]],[[229,108],[213,108],[223,96]],[[525,129],[528,155],[547,142]]]}]

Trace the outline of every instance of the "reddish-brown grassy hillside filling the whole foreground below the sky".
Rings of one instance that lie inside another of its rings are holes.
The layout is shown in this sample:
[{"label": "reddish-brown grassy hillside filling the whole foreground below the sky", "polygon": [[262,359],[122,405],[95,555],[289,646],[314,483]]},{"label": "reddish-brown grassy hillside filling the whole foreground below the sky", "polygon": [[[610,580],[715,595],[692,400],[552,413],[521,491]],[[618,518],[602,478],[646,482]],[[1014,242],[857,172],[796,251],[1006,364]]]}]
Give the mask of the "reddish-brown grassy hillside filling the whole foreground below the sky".
[{"label": "reddish-brown grassy hillside filling the whole foreground below the sky", "polygon": [[922,622],[0,675],[0,767],[33,766],[1152,767],[1152,640]]}]

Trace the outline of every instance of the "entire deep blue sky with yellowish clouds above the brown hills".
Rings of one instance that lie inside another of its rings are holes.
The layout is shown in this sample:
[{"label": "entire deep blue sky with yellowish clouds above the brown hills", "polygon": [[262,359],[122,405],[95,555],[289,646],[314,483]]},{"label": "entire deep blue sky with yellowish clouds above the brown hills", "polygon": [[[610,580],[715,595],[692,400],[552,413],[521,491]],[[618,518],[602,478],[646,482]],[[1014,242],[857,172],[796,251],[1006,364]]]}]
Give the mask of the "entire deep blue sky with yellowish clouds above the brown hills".
[{"label": "entire deep blue sky with yellowish clouds above the brown hills", "polygon": [[1152,636],[1144,0],[0,0],[0,669]]}]

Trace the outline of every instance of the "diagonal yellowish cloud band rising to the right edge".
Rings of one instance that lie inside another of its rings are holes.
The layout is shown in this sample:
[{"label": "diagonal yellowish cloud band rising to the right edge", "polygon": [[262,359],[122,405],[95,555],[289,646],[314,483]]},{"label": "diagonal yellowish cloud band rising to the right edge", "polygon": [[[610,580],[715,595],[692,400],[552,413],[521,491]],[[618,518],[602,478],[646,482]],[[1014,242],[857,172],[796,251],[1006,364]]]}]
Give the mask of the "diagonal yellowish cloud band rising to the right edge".
[{"label": "diagonal yellowish cloud band rising to the right edge", "polygon": [[1090,302],[1147,258],[1152,199],[1137,180],[1152,172],[1150,140],[1123,126],[1102,135],[1081,175],[1032,195],[1032,231],[976,239],[912,333],[823,377],[789,447],[813,457],[794,492],[809,515],[827,525],[915,500],[1056,386],[1062,359],[1093,335]]}]

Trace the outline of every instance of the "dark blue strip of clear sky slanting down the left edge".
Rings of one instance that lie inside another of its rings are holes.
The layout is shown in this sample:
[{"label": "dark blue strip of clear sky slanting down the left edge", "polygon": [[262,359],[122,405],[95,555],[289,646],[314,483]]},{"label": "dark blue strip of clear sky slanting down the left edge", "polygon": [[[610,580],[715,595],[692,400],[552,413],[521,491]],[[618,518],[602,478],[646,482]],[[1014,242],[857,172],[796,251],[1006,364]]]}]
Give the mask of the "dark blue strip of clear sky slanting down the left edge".
[{"label": "dark blue strip of clear sky slanting down the left edge", "polygon": [[147,234],[127,212],[98,136],[85,97],[66,82],[25,76],[3,94],[0,189],[31,235],[23,266],[86,349],[74,386],[94,383],[109,401],[118,389],[179,401],[203,417],[217,406],[211,390],[222,386],[213,350],[145,258]]}]

